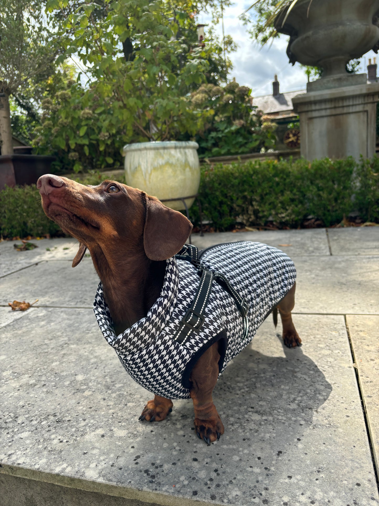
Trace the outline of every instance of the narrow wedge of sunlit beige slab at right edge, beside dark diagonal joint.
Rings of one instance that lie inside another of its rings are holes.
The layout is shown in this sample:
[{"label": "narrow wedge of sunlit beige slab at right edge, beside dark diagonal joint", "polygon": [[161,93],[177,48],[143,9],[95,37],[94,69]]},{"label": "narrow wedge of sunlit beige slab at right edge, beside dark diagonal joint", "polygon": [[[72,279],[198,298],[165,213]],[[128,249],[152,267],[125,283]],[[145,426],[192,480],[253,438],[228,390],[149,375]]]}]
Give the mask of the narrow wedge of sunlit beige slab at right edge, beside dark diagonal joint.
[{"label": "narrow wedge of sunlit beige slab at right edge, beside dark diagonal joint", "polygon": [[379,316],[347,315],[346,321],[379,475]]}]

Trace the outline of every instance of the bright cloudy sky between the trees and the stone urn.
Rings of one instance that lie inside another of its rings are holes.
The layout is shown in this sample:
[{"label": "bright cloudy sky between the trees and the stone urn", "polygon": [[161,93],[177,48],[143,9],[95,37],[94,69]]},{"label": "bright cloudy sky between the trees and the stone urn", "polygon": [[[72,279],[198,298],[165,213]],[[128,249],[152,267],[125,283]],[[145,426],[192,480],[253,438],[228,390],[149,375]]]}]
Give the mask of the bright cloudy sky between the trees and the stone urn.
[{"label": "bright cloudy sky between the trees and the stone urn", "polygon": [[[261,48],[250,38],[246,26],[239,20],[239,16],[252,4],[252,0],[236,0],[230,7],[224,10],[224,31],[225,35],[232,36],[238,45],[235,53],[229,55],[233,69],[230,77],[241,86],[249,86],[252,89],[252,96],[259,97],[272,93],[271,82],[274,74],[277,74],[280,83],[280,92],[303,90],[307,85],[307,76],[299,63],[292,66],[288,62],[286,54],[288,37],[281,35],[276,38],[270,47],[268,43]],[[252,11],[253,12],[253,11]],[[205,14],[200,15],[200,23],[210,22],[211,17]],[[205,30],[207,27],[205,27]],[[220,39],[222,38],[221,23],[216,27]],[[205,32],[206,34],[206,32]],[[361,58],[361,72],[366,72],[368,58],[375,55],[370,51]]]}]

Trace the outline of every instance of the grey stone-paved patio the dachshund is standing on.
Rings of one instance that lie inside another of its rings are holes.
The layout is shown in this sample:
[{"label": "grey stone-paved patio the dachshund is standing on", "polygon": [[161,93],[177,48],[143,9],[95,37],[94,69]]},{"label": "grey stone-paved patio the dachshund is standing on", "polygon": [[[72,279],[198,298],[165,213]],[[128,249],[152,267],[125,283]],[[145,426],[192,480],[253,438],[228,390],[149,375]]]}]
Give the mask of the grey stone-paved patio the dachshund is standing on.
[{"label": "grey stone-paved patio the dachshund is standing on", "polygon": [[138,421],[151,394],[101,334],[74,239],[0,243],[2,506],[379,503],[379,227],[193,235],[235,240],[294,260],[303,345],[264,322],[217,383],[225,434],[209,447],[190,401]]}]

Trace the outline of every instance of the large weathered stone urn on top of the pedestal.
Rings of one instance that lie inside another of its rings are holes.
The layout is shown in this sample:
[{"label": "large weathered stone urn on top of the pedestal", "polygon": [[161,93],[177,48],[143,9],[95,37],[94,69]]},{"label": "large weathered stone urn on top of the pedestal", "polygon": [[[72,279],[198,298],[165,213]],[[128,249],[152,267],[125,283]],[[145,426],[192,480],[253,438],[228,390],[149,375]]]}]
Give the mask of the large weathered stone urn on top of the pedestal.
[{"label": "large weathered stone urn on top of the pedestal", "polygon": [[317,91],[365,84],[366,74],[352,75],[346,64],[379,49],[379,0],[298,0],[275,19],[279,33],[290,35],[290,63],[322,67],[322,77],[307,85]]}]

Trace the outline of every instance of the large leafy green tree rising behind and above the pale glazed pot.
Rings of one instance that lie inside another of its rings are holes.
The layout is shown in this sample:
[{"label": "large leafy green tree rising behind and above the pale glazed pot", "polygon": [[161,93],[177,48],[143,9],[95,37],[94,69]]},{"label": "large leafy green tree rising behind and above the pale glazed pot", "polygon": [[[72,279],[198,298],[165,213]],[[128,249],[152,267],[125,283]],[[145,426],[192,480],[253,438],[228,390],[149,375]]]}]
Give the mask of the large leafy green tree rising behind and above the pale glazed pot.
[{"label": "large leafy green tree rising behind and above the pale glazed pot", "polygon": [[[198,44],[191,9],[199,4],[104,2],[102,15],[96,16],[93,4],[68,13],[66,5],[48,3],[51,14],[62,19],[65,53],[58,62],[77,54],[88,82],[43,103],[44,121],[35,140],[39,152],[56,150],[66,168],[71,163],[79,171],[120,163],[128,142],[195,135],[209,112],[191,107],[190,94],[207,76],[226,80],[230,67],[217,40]],[[228,45],[231,49],[230,40]]]}]

